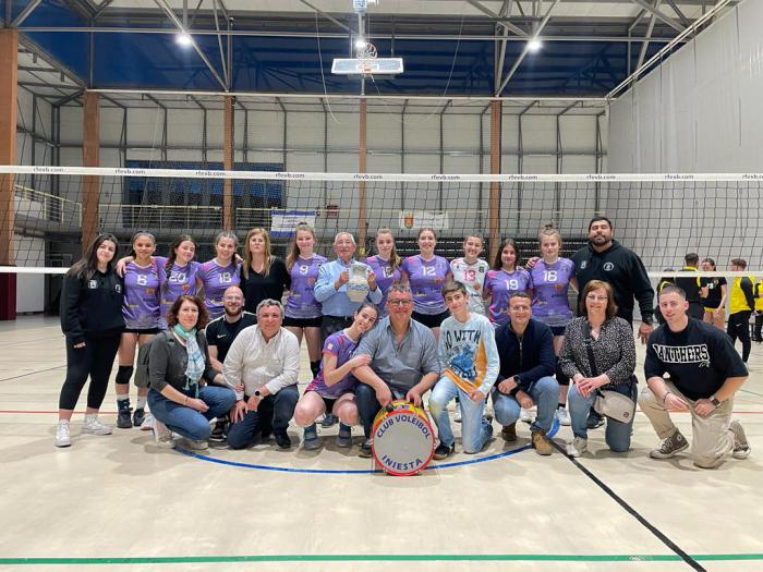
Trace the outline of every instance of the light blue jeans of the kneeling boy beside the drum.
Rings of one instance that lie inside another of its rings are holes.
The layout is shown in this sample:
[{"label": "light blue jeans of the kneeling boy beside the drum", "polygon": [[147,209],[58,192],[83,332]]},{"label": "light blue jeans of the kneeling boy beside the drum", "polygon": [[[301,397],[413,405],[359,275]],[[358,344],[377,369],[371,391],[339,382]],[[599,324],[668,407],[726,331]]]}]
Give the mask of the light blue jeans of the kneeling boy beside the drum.
[{"label": "light blue jeans of the kneeling boy beside the drum", "polygon": [[461,407],[461,445],[464,453],[477,453],[493,435],[493,427],[482,416],[485,411],[485,400],[476,403],[449,377],[441,377],[432,390],[429,397],[429,413],[437,425],[440,443],[450,447],[456,441],[450,428],[448,403],[459,398]]}]

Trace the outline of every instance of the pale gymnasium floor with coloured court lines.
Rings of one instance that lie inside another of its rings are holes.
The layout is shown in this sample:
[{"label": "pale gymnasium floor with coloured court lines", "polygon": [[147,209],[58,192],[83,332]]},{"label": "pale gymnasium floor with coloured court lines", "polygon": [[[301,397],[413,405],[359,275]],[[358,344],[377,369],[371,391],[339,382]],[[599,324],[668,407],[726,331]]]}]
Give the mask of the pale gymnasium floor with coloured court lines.
[{"label": "pale gymnasium floor with coloured court lines", "polygon": [[[763,570],[758,344],[735,405],[753,449],[744,461],[700,471],[688,457],[650,460],[657,438],[639,413],[627,455],[608,453],[598,429],[580,463],[540,458],[522,426],[512,447],[498,438],[399,478],[330,439],[317,453],[270,442],[192,455],[138,429],[81,437],[81,414],[72,447],[56,449],[58,321],[0,322],[0,570]],[[105,421],[114,410],[112,387]],[[679,426],[691,435],[688,415]],[[301,435],[293,423],[290,434]]]}]

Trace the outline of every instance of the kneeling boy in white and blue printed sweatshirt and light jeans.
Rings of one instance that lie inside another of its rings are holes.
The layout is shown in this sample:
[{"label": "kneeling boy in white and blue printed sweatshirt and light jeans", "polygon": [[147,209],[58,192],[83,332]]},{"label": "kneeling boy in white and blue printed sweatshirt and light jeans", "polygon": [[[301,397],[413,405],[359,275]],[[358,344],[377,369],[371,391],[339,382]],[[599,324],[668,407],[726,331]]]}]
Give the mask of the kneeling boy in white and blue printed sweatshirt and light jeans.
[{"label": "kneeling boy in white and blue printed sweatshirt and light jeans", "polygon": [[443,370],[429,398],[429,412],[439,436],[435,459],[439,460],[456,451],[447,410],[456,397],[457,406],[461,407],[463,452],[480,452],[493,435],[491,419],[483,412],[500,365],[493,325],[485,316],[469,312],[467,287],[448,282],[443,297],[451,316],[443,321],[440,329],[437,353]]}]

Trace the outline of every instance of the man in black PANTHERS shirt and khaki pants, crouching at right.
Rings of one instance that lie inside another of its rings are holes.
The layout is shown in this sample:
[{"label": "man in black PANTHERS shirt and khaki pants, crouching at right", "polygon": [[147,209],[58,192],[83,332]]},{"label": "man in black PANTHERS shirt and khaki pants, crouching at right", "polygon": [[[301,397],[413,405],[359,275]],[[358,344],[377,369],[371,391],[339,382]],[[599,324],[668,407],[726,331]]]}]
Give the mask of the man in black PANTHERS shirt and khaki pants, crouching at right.
[{"label": "man in black PANTHERS shirt and khaki pants, crouching at right", "polygon": [[[668,459],[689,443],[670,419],[670,412],[688,411],[692,421],[692,457],[700,468],[715,468],[731,454],[746,459],[750,446],[738,421],[731,421],[734,394],[748,370],[731,341],[710,324],[687,316],[683,290],[666,285],[659,292],[665,325],[646,342],[646,385],[639,405],[663,442],[650,452]],[[669,374],[669,379],[663,376]]]}]

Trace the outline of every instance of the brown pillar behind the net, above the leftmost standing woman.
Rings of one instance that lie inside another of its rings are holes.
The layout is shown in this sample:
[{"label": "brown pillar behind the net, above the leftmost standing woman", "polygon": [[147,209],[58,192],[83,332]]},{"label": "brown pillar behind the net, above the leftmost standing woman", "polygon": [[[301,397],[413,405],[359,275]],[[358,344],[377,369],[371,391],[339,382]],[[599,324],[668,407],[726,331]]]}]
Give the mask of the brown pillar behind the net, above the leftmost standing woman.
[{"label": "brown pillar behind the net, above the leftmost standing woman", "polygon": [[[85,92],[85,108],[82,129],[82,162],[85,167],[100,167],[99,96]],[[100,202],[100,178],[82,178],[82,254],[98,235],[98,206]]]}]

